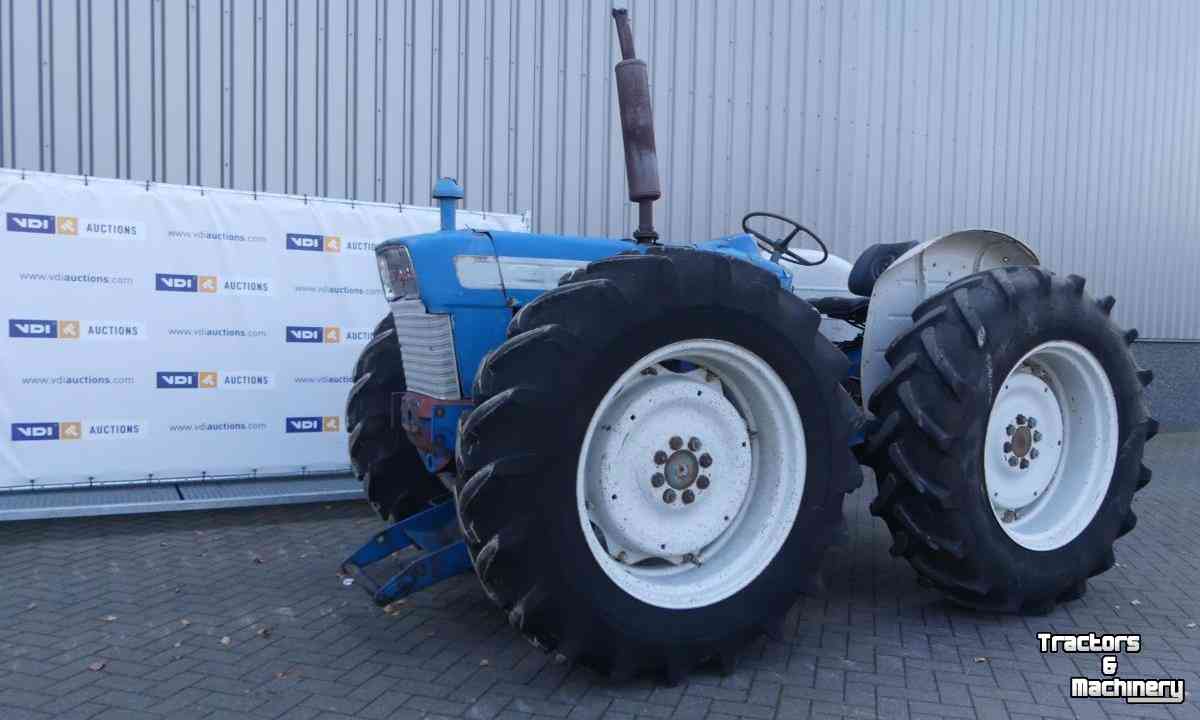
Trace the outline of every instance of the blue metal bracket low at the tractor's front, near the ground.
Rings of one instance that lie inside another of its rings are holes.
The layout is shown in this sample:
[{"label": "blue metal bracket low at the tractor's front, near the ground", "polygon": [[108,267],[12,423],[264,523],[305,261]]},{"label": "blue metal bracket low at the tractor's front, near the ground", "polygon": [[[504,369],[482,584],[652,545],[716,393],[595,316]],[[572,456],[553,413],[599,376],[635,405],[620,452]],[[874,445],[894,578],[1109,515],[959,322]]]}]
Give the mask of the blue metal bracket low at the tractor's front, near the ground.
[{"label": "blue metal bracket low at the tractor's front, near the ground", "polygon": [[[421,551],[421,554],[385,583],[379,584],[366,572],[367,566],[409,547]],[[376,605],[383,606],[468,572],[470,568],[454,500],[446,500],[376,533],[366,545],[346,558],[341,575],[353,577]]]}]

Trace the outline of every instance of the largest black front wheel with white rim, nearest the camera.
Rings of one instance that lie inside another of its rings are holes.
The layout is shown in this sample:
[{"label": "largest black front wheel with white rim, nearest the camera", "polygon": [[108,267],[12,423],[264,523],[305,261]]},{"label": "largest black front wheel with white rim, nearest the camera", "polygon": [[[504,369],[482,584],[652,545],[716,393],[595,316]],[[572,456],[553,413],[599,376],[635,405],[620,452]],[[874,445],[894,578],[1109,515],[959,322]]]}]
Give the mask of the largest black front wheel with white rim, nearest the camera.
[{"label": "largest black front wheel with white rim, nearest the camera", "polygon": [[847,360],[769,272],[652,248],[524,306],[460,422],[491,599],[559,661],[679,680],[781,622],[862,481]]}]

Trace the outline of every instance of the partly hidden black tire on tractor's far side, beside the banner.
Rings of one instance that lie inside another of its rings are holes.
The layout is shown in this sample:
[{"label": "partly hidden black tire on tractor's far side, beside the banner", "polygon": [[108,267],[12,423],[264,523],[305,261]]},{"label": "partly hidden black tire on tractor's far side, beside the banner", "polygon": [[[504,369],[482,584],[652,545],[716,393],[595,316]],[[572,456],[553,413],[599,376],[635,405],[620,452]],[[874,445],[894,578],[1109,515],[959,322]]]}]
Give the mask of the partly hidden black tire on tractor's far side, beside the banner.
[{"label": "partly hidden black tire on tractor's far side, beside the banner", "polygon": [[404,431],[392,425],[391,396],[403,391],[404,364],[388,313],[354,364],[354,385],[346,400],[350,464],[371,506],[388,522],[424,510],[446,494]]}]

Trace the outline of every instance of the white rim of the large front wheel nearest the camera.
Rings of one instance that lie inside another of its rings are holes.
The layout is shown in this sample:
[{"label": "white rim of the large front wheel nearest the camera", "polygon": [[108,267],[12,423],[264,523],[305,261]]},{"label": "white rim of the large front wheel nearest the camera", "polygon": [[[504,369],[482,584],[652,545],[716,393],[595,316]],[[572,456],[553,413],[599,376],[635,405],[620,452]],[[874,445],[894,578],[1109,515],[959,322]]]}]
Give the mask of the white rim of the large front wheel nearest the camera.
[{"label": "white rim of the large front wheel nearest the camera", "polygon": [[634,598],[712,605],[787,540],[806,461],[792,394],[762,358],[720,340],[671,343],[626,370],[592,416],[576,470],[583,535]]}]

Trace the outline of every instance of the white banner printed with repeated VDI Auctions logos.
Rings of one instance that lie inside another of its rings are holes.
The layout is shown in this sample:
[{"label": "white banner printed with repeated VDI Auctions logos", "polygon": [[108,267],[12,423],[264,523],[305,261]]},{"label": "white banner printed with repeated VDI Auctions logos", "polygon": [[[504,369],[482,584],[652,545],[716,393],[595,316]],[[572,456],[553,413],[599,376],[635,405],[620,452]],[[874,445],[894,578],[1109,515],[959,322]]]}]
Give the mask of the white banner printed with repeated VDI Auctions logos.
[{"label": "white banner printed with repeated VDI Auctions logos", "polygon": [[19,170],[0,215],[0,488],[346,468],[350,372],[386,312],[373,248],[439,222]]}]

